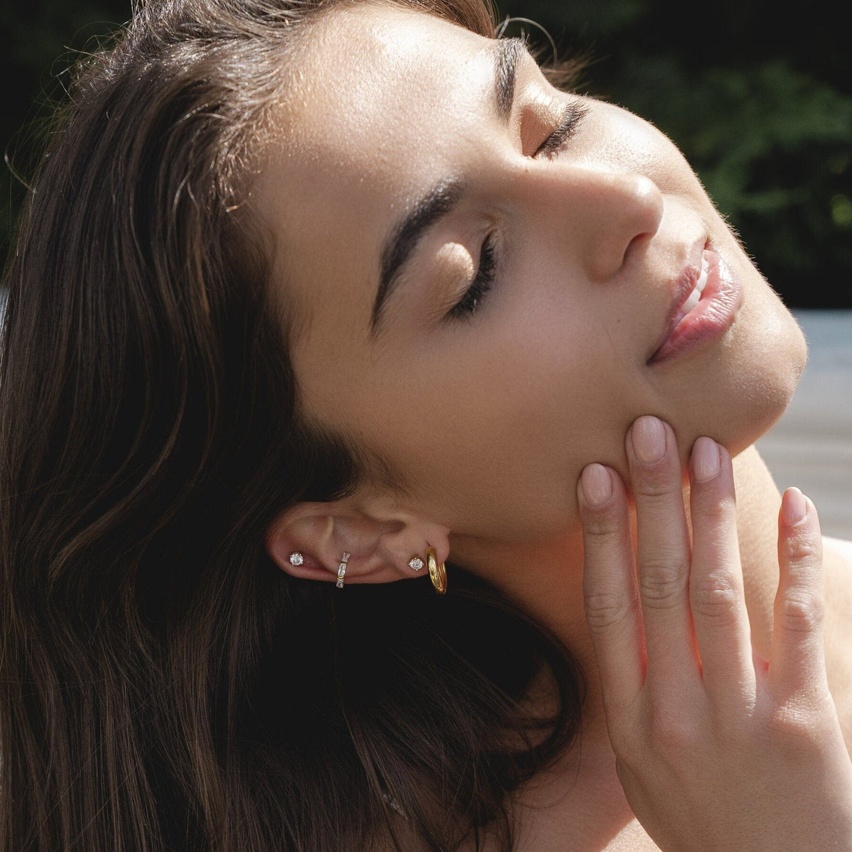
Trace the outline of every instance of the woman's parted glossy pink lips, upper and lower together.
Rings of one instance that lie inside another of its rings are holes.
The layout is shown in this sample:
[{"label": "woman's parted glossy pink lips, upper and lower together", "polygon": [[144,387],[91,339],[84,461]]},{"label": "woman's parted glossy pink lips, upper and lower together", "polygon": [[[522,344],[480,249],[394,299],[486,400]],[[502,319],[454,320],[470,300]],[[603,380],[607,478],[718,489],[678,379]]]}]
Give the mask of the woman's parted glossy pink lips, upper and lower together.
[{"label": "woman's parted glossy pink lips, upper and lower together", "polygon": [[[682,306],[698,282],[702,259],[708,264],[707,284],[698,304],[684,314]],[[677,279],[665,333],[648,364],[661,364],[721,337],[733,325],[741,303],[740,282],[708,240],[699,251],[697,262],[694,258]]]}]

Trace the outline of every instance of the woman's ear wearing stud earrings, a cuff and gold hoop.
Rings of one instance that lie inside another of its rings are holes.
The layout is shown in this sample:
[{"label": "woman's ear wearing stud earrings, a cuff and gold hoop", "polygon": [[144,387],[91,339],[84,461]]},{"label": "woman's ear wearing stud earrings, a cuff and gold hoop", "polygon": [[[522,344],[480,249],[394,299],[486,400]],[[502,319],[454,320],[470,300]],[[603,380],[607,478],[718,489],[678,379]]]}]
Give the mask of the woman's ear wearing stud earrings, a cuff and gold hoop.
[{"label": "woman's ear wearing stud earrings, a cuff and gold hoop", "polygon": [[[270,524],[266,549],[293,577],[337,581],[337,568],[348,553],[346,584],[390,583],[428,576],[425,550],[435,548],[439,562],[450,553],[450,531],[392,504],[374,498],[333,503],[300,503]],[[291,556],[300,554],[291,560]],[[420,570],[409,567],[417,556]]]}]

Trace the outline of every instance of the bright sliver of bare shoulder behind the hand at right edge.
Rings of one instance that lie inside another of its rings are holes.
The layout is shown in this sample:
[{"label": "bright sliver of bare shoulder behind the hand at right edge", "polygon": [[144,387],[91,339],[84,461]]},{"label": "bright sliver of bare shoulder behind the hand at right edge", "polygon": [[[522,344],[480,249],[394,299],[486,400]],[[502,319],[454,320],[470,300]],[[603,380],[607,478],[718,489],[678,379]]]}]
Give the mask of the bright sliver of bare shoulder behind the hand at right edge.
[{"label": "bright sliver of bare shoulder behind the hand at right edge", "polygon": [[852,748],[852,542],[823,539],[828,683],[843,726],[846,745]]}]

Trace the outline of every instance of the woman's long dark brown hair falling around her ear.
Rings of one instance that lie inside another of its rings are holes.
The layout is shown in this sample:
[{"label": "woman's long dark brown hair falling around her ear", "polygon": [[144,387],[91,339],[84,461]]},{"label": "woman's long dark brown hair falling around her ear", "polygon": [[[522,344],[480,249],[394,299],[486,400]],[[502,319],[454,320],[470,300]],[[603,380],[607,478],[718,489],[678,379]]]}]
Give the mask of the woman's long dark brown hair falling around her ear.
[{"label": "woman's long dark brown hair falling around her ear", "polygon": [[0,852],[509,849],[576,732],[572,659],[484,584],[332,594],[263,549],[370,463],[302,421],[242,203],[338,4],[148,0],[58,113],[5,277]]}]

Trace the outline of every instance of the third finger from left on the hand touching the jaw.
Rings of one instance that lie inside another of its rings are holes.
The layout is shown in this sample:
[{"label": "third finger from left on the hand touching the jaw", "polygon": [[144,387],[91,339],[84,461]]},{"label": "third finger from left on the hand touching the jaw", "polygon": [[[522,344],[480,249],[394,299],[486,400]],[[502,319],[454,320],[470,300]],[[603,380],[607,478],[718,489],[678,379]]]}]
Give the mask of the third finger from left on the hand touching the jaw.
[{"label": "third finger from left on the hand touching the jaw", "polygon": [[737,540],[734,470],[728,451],[711,438],[695,441],[689,459],[693,523],[689,604],[711,702],[741,708],[753,698],[751,629]]}]

